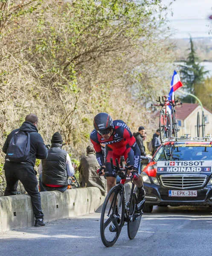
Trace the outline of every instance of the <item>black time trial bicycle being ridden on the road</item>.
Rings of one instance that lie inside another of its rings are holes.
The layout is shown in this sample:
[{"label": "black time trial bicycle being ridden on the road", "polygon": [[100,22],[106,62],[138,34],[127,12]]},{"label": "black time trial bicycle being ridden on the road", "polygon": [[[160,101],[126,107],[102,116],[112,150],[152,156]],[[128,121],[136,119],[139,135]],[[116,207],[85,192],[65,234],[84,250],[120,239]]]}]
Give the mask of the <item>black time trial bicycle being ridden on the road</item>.
[{"label": "black time trial bicycle being ridden on the road", "polygon": [[[141,157],[141,165],[148,164],[148,162],[148,157]],[[116,166],[114,166],[112,158],[110,158],[110,164],[114,172],[121,177],[121,180],[118,185],[110,189],[102,207],[100,234],[102,243],[106,247],[115,244],[125,222],[127,222],[129,239],[134,239],[143,214],[142,211],[137,211],[136,209],[138,189],[134,183],[132,183],[130,197],[127,201],[124,185],[134,178],[133,175],[128,177],[127,174],[131,167],[125,166],[125,168],[120,168],[117,159]],[[110,227],[113,227],[113,232],[111,232]]]}]

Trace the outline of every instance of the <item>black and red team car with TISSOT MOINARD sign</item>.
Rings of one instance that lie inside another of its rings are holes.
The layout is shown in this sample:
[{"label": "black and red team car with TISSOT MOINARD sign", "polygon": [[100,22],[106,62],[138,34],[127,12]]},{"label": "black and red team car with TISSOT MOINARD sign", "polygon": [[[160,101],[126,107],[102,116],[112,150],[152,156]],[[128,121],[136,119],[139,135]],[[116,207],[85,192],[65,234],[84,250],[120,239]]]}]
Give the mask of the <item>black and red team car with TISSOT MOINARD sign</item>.
[{"label": "black and red team car with TISSOT MOINARD sign", "polygon": [[141,173],[145,212],[157,206],[212,206],[212,138],[167,139]]}]

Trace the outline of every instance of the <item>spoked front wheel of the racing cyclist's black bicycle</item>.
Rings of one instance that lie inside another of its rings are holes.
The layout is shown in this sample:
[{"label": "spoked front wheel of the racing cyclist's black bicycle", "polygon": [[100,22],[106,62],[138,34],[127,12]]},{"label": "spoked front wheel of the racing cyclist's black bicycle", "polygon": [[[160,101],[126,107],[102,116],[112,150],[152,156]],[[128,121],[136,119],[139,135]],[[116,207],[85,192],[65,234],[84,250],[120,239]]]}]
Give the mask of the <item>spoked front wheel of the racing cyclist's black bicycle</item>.
[{"label": "spoked front wheel of the racing cyclist's black bicycle", "polygon": [[[118,211],[116,211],[116,205]],[[106,247],[113,246],[117,241],[122,230],[124,215],[125,203],[122,197],[122,186],[114,186],[105,198],[100,220],[101,239]],[[115,232],[110,232],[110,226],[115,227]]]}]

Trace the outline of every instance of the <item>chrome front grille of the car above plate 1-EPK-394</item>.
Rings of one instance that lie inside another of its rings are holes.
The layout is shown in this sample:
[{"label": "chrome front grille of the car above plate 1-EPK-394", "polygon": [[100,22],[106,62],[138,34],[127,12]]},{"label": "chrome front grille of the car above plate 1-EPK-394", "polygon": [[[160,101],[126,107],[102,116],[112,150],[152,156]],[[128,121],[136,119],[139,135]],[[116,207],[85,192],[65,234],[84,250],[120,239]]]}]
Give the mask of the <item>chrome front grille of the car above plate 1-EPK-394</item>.
[{"label": "chrome front grille of the car above plate 1-EPK-394", "polygon": [[194,189],[204,186],[207,175],[160,175],[162,185],[173,189]]}]

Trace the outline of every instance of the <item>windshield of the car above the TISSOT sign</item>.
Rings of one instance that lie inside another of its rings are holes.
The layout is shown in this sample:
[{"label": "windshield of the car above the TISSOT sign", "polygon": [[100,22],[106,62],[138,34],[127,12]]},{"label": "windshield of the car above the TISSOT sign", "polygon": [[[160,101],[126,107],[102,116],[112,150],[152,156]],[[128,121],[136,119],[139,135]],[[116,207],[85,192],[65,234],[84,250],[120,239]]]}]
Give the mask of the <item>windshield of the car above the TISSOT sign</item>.
[{"label": "windshield of the car above the TISSOT sign", "polygon": [[212,147],[163,145],[154,157],[157,161],[212,160]]}]

